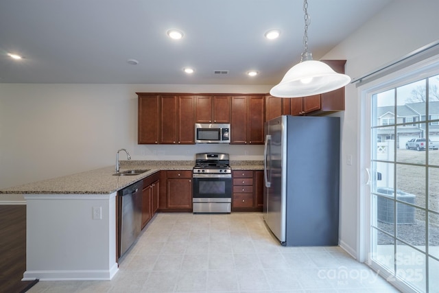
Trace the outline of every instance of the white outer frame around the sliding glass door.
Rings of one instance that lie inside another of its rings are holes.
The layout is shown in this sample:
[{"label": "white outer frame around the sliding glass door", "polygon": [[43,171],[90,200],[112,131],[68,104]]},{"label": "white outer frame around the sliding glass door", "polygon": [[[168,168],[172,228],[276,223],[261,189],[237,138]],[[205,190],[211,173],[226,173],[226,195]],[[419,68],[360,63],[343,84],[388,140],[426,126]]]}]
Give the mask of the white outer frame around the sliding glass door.
[{"label": "white outer frame around the sliding glass door", "polygon": [[[359,198],[357,200],[357,259],[366,263],[370,268],[379,272],[386,280],[394,280],[394,274],[385,270],[377,261],[372,259],[372,95],[388,91],[423,78],[437,75],[439,56],[434,56],[410,65],[399,71],[394,71],[383,78],[362,84],[357,89],[359,97],[358,108],[358,153],[359,153]],[[403,292],[416,292],[412,287],[396,281],[392,283]]]}]

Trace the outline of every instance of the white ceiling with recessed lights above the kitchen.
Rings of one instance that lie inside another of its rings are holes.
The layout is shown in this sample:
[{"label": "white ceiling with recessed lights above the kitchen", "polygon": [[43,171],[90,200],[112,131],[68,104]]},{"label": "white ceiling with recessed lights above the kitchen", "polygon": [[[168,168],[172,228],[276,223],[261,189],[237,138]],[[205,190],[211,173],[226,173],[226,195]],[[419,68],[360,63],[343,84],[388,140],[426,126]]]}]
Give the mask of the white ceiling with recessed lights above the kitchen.
[{"label": "white ceiling with recessed lights above the kitchen", "polygon": [[[313,58],[320,59],[390,1],[309,0]],[[0,83],[277,84],[303,51],[302,5],[302,0],[1,0]],[[171,40],[169,29],[185,36]],[[281,36],[265,39],[270,29],[281,30]],[[24,59],[12,60],[8,53]],[[139,64],[129,65],[130,58]],[[183,73],[184,67],[195,73]],[[249,70],[259,75],[250,78]]]}]

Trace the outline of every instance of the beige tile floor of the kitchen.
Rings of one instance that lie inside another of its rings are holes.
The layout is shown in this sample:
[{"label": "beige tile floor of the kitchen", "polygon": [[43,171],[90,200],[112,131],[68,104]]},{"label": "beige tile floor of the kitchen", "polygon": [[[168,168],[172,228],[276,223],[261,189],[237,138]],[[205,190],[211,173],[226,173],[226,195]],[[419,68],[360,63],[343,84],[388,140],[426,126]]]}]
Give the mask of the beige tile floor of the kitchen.
[{"label": "beige tile floor of the kitchen", "polygon": [[261,213],[158,213],[111,281],[28,292],[399,292],[339,247],[283,247]]}]

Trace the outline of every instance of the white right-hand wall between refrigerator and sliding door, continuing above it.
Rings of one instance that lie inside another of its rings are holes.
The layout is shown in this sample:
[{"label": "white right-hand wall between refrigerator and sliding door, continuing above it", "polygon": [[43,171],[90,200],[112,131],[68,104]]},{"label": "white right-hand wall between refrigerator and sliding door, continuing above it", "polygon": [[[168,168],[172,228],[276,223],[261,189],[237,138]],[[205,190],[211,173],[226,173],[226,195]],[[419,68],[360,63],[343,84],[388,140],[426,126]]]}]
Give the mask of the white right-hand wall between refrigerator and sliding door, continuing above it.
[{"label": "white right-hand wall between refrigerator and sliding door, continuing above it", "polygon": [[[357,78],[382,65],[439,39],[439,1],[396,0],[374,19],[346,38],[324,59],[346,59],[346,74]],[[312,48],[311,48],[312,49]],[[357,256],[357,203],[360,184],[366,178],[359,170],[359,95],[354,84],[346,86],[346,110],[342,113],[342,183],[340,204],[341,244]],[[353,155],[353,165],[346,156]]]}]

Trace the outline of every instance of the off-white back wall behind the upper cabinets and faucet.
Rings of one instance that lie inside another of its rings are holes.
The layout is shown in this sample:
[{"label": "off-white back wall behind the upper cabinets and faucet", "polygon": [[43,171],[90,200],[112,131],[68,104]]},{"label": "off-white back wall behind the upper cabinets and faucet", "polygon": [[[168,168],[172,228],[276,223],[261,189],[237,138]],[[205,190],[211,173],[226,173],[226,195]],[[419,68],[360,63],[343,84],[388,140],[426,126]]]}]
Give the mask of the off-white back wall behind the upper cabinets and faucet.
[{"label": "off-white back wall behind the upper cabinets and faucet", "polygon": [[[262,160],[263,145],[138,145],[136,92],[268,93],[268,86],[0,84],[0,188],[134,160],[227,152]],[[121,154],[121,159],[126,159]]]}]

